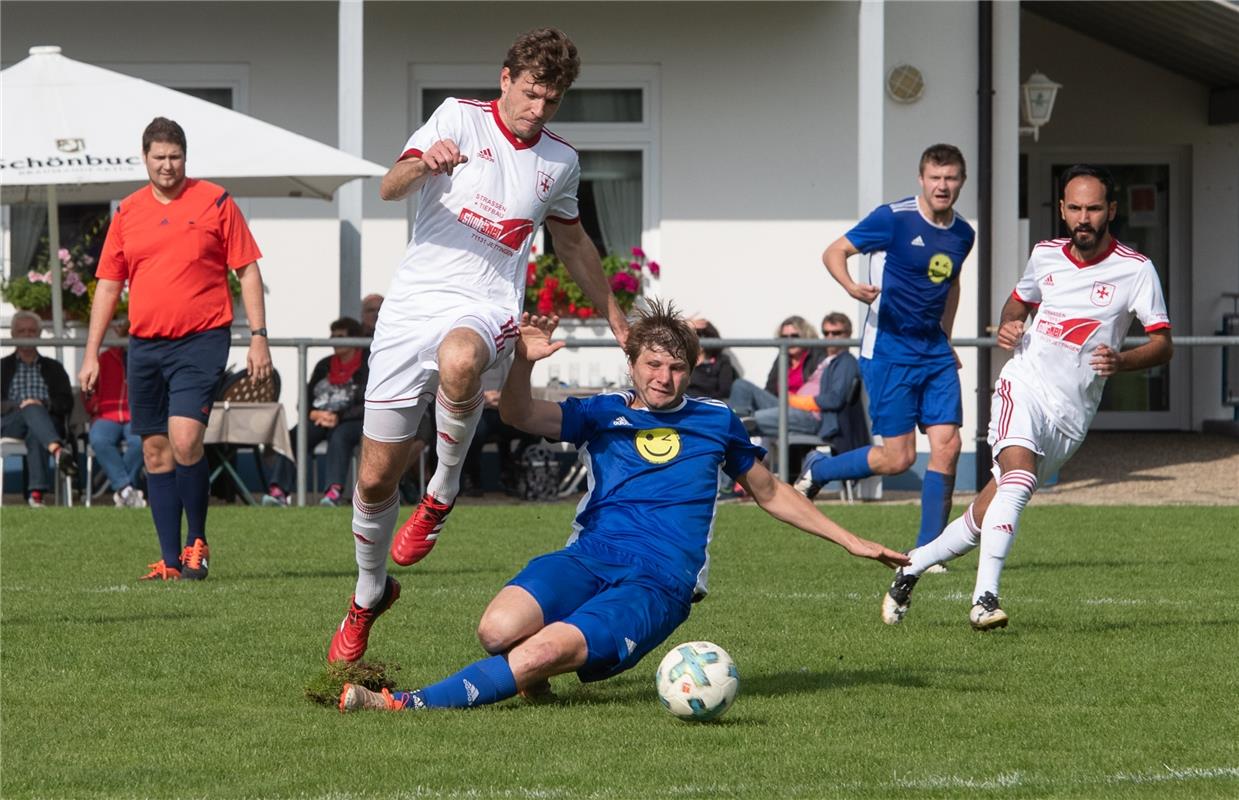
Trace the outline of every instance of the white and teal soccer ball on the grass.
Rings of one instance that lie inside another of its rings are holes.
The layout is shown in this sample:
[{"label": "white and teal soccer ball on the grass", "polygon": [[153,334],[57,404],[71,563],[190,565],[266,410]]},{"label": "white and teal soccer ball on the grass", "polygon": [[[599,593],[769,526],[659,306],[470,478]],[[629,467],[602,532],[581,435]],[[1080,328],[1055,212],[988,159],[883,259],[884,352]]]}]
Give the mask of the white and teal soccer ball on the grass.
[{"label": "white and teal soccer ball on the grass", "polygon": [[736,700],[740,672],[727,651],[711,641],[685,641],[663,656],[654,674],[663,707],[680,720],[717,720]]}]

